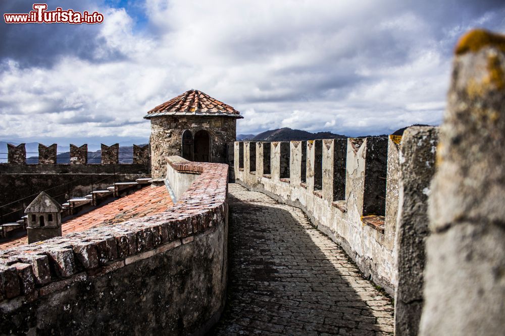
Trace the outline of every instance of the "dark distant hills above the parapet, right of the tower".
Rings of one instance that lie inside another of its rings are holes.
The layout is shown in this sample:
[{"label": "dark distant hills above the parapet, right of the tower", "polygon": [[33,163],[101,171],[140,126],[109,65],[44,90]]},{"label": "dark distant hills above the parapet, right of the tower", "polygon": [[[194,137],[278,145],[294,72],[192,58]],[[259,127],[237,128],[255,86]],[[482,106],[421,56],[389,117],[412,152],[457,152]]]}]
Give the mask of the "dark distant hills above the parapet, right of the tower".
[{"label": "dark distant hills above the parapet, right of the tower", "polygon": [[[424,124],[414,124],[412,126],[428,126]],[[395,130],[392,135],[401,136],[403,135],[403,131],[408,127],[403,127]],[[357,138],[366,138],[366,137],[387,137],[387,134],[382,134],[380,136],[361,136]],[[304,141],[304,140],[318,140],[318,139],[347,139],[349,137],[335,134],[332,132],[317,132],[311,133],[306,130],[300,129],[291,129],[288,127],[278,128],[267,130],[265,132],[259,133],[258,135],[253,134],[239,134],[237,135],[237,141]]]}]

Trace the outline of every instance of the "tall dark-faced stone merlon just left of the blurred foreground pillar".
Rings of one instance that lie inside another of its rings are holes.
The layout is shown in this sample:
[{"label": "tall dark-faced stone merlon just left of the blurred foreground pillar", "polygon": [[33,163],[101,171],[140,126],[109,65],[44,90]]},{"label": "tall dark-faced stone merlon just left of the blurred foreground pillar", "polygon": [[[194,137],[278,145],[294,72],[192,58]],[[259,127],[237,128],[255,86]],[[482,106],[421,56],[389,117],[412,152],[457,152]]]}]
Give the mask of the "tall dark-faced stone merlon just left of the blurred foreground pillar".
[{"label": "tall dark-faced stone merlon just left of the blurred foreground pillar", "polygon": [[[401,141],[396,224],[397,286],[394,301],[397,335],[415,336],[419,331],[429,221],[428,195],[435,173],[437,143],[436,127],[409,127],[403,133]],[[394,155],[396,144],[390,140],[389,147],[388,159],[393,161],[397,157]],[[392,174],[395,171],[394,162],[388,162],[388,168]]]}]

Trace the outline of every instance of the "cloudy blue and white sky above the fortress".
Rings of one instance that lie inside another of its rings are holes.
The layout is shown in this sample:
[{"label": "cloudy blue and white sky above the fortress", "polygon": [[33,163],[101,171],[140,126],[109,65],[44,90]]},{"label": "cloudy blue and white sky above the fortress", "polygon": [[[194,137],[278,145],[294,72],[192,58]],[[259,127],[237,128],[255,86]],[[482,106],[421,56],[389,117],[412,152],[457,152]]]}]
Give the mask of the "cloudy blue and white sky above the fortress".
[{"label": "cloudy blue and white sky above the fortress", "polygon": [[[2,0],[4,13],[33,2]],[[100,25],[0,23],[0,140],[147,139],[145,112],[199,89],[245,117],[350,136],[438,124],[465,31],[505,3],[457,0],[47,1]]]}]

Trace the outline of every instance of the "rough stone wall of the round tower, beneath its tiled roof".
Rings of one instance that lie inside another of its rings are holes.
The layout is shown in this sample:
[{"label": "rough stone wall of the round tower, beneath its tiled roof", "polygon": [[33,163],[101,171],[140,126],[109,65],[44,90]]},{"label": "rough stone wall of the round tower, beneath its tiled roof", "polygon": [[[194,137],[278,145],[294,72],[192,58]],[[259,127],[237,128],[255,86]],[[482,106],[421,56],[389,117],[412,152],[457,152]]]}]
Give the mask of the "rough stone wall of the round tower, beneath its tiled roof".
[{"label": "rough stone wall of the round tower, beneath its tiled roof", "polygon": [[194,137],[199,130],[209,132],[211,162],[228,163],[228,146],[236,140],[236,118],[222,116],[158,116],[151,121],[151,174],[164,177],[165,157],[182,155],[182,133],[189,129]]}]

